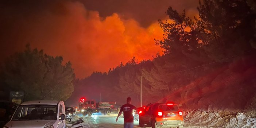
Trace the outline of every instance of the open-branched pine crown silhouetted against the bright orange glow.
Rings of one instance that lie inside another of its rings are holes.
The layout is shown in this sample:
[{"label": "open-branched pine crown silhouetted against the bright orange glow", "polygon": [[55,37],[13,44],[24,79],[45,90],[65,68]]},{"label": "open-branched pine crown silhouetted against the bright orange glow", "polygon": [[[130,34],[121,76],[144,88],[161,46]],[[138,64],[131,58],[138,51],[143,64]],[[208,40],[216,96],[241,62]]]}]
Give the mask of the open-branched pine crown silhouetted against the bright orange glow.
[{"label": "open-branched pine crown silhouetted against the bright orange glow", "polygon": [[188,49],[189,32],[187,29],[191,28],[193,21],[186,17],[185,10],[180,15],[172,7],[169,7],[166,13],[171,21],[162,22],[159,20],[160,27],[164,31],[164,39],[155,40],[156,45],[161,46],[166,54],[180,54],[182,50]]}]

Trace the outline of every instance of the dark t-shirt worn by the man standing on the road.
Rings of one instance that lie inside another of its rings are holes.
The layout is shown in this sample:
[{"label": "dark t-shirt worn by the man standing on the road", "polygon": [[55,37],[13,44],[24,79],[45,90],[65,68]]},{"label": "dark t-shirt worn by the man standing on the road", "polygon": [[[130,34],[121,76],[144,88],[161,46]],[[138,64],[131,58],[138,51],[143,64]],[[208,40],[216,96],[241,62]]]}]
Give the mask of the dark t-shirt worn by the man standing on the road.
[{"label": "dark t-shirt worn by the man standing on the road", "polygon": [[133,115],[132,115],[132,109],[137,110],[137,108],[131,104],[124,104],[121,107],[120,112],[124,112],[124,122],[128,123],[128,122],[133,122]]}]

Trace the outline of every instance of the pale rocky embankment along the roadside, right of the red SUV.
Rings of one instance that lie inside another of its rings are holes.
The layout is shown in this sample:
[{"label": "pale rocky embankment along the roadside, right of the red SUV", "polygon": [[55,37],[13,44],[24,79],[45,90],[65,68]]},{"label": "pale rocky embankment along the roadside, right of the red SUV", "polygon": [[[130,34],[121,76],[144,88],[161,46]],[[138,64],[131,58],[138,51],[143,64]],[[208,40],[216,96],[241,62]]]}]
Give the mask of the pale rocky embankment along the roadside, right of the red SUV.
[{"label": "pale rocky embankment along the roadside, right of the red SUV", "polygon": [[183,112],[188,123],[223,128],[256,128],[256,118],[240,112],[194,110]]}]

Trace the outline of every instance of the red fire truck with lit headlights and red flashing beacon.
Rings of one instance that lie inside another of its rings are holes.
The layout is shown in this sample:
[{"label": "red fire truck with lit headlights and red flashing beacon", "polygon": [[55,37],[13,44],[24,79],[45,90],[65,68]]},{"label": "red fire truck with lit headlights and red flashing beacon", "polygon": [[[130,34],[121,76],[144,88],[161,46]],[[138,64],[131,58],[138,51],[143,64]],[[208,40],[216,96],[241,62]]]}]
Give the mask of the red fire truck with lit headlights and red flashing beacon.
[{"label": "red fire truck with lit headlights and red flashing beacon", "polygon": [[101,112],[102,115],[110,115],[111,112],[116,112],[116,102],[95,102],[95,100],[85,100],[81,98],[79,101],[78,113],[83,116],[92,116],[93,113]]}]

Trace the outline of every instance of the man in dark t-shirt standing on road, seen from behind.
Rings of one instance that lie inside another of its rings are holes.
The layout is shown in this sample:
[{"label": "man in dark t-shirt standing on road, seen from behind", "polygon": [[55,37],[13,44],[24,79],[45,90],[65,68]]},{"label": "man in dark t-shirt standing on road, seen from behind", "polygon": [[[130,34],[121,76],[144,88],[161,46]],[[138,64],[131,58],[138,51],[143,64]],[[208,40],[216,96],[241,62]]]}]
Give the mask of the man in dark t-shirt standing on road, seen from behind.
[{"label": "man in dark t-shirt standing on road, seen from behind", "polygon": [[131,105],[132,98],[127,98],[127,104],[122,105],[120,112],[118,113],[118,116],[116,117],[116,122],[118,121],[118,117],[121,115],[122,112],[124,112],[124,128],[133,128],[133,116],[132,116],[132,110],[137,108],[133,105]]}]

